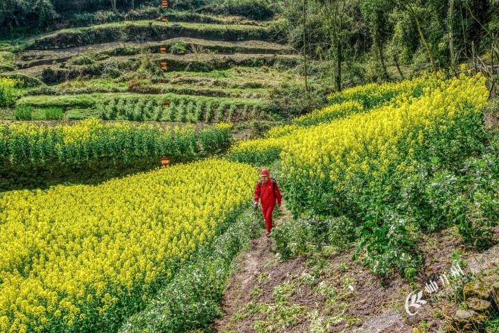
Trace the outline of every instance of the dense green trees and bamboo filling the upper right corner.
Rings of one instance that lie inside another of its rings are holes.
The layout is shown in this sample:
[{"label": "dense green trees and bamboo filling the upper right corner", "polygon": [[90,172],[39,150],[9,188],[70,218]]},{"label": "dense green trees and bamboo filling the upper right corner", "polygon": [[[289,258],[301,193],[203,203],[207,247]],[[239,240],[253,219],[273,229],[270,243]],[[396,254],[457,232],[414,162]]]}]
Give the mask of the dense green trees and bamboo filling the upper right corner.
[{"label": "dense green trees and bamboo filling the upper right corner", "polygon": [[312,85],[319,79],[341,90],[427,70],[458,71],[469,59],[489,73],[484,63],[499,62],[496,0],[304,3],[305,10],[302,1],[281,3],[280,22],[290,44],[321,60],[308,64]]}]

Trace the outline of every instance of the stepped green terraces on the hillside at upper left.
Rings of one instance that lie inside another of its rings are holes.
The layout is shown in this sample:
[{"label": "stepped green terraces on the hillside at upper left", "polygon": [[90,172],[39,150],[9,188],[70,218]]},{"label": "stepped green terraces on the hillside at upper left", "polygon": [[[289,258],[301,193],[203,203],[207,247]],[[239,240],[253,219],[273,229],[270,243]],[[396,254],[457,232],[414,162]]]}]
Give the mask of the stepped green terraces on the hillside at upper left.
[{"label": "stepped green terraces on the hillside at upper left", "polygon": [[[4,47],[0,76],[19,80],[22,93],[0,119],[223,121],[240,123],[234,132],[243,137],[255,120],[282,119],[270,107],[270,89],[301,78],[294,69],[299,56],[275,22],[189,12],[164,17],[168,22],[65,28]],[[150,112],[130,116],[127,105]],[[19,108],[30,108],[30,119],[19,117]],[[48,117],[53,108],[62,117]]]}]

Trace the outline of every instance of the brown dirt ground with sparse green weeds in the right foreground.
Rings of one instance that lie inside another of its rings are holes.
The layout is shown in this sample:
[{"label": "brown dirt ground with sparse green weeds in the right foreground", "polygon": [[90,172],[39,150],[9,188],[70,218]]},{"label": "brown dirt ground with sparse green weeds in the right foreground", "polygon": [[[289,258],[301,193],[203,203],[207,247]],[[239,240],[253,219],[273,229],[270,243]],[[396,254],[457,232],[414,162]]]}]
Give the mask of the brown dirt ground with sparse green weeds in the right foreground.
[{"label": "brown dirt ground with sparse green weeds in the right foreground", "polygon": [[[279,225],[286,219],[290,212],[283,203],[275,222]],[[426,260],[417,286],[448,270],[459,245],[452,229],[421,241]],[[223,316],[212,327],[215,332],[429,333],[439,329],[439,311],[455,310],[455,304],[441,299],[408,316],[404,309],[412,291],[408,281],[397,273],[380,280],[351,259],[353,248],[281,261],[274,247],[274,241],[262,234],[251,250],[239,255],[222,298]]]}]

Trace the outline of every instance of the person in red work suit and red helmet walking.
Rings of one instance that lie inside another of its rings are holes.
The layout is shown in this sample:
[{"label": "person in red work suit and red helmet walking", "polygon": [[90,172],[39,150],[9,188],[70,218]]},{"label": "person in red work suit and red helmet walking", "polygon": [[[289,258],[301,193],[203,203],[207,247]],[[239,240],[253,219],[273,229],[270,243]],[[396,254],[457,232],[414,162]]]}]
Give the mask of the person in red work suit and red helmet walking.
[{"label": "person in red work suit and red helmet walking", "polygon": [[261,180],[256,183],[254,191],[255,207],[258,206],[258,200],[260,199],[262,205],[263,219],[265,219],[265,225],[267,226],[267,236],[272,230],[272,212],[276,204],[281,208],[281,192],[279,192],[279,187],[277,187],[277,182],[274,178],[270,178],[270,173],[267,169],[262,169],[260,172]]}]

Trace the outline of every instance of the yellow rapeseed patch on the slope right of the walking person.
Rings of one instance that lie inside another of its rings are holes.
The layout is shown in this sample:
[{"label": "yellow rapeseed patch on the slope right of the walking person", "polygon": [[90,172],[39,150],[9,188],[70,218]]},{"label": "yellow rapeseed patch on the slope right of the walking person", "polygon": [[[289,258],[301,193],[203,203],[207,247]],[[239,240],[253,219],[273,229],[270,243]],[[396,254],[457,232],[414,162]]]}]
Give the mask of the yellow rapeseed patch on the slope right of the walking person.
[{"label": "yellow rapeseed patch on the slope right of the walking person", "polygon": [[[433,155],[443,156],[451,148],[446,143],[456,137],[463,137],[460,144],[466,144],[465,135],[473,136],[480,126],[480,112],[487,103],[484,83],[480,75],[441,80],[419,99],[295,132],[292,140],[281,142],[280,155],[288,185],[299,189],[290,192],[290,201],[328,205],[327,199],[322,199],[326,191],[328,198],[336,199],[349,193],[353,205],[360,187],[374,191],[395,172],[413,170],[430,153],[429,144],[439,149]],[[307,191],[315,180],[324,191]],[[343,202],[348,204],[346,197]],[[333,205],[327,207],[333,209]]]}]

